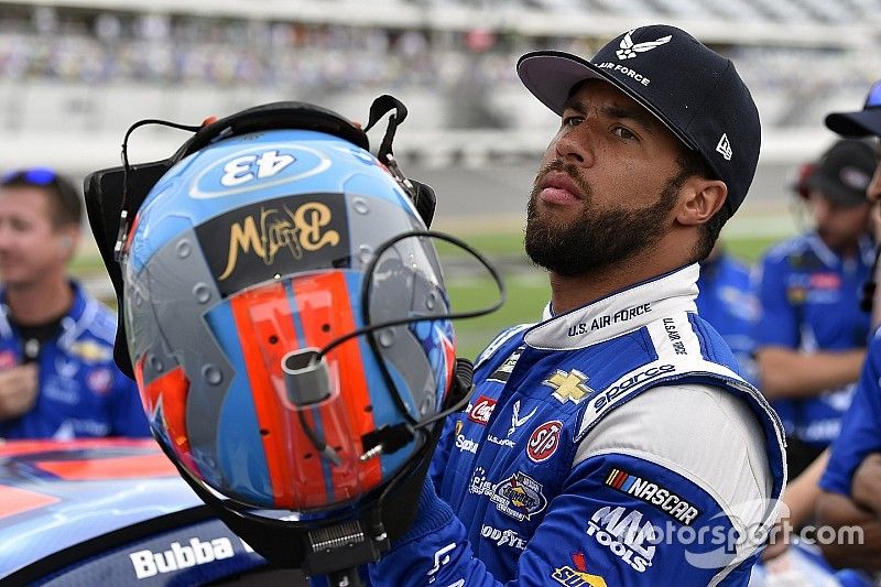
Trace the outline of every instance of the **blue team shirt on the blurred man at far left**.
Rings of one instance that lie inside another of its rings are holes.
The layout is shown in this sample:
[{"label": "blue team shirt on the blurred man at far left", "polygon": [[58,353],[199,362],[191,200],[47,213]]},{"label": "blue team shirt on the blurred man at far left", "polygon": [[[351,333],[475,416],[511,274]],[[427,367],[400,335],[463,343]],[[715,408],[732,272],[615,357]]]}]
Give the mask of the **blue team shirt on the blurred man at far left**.
[{"label": "blue team shirt on the blurred man at far left", "polygon": [[[61,331],[40,347],[36,403],[0,421],[0,438],[150,436],[134,381],[113,363],[113,313],[72,283]],[[22,339],[0,292],[0,369],[22,362]]]}]

